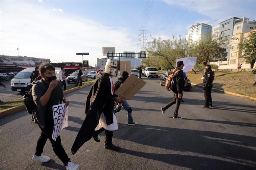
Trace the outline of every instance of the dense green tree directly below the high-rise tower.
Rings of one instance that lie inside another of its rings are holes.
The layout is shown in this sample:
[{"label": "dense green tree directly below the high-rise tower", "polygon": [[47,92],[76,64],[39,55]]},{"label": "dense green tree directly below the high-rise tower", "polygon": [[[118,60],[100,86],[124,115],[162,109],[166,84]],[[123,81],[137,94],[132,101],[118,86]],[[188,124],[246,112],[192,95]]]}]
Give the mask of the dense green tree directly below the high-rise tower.
[{"label": "dense green tree directly below the high-rise tower", "polygon": [[197,57],[197,63],[210,62],[211,60],[226,60],[227,52],[225,47],[226,40],[220,37],[212,39],[209,34],[205,41],[201,41],[199,45],[190,50],[190,56]]}]

